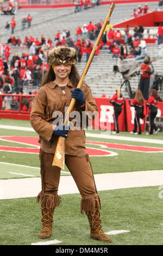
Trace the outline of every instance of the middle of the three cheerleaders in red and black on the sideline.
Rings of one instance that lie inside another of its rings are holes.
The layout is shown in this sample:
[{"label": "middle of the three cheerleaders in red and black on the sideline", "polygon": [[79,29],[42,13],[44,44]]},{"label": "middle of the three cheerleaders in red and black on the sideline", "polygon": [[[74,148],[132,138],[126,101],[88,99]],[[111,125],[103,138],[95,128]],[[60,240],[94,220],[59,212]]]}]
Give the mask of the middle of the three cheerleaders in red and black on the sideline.
[{"label": "middle of the three cheerleaders in red and black on the sideline", "polygon": [[144,99],[140,90],[136,91],[135,98],[131,101],[129,100],[129,104],[130,106],[135,107],[134,130],[130,133],[141,134],[140,118],[143,117]]}]

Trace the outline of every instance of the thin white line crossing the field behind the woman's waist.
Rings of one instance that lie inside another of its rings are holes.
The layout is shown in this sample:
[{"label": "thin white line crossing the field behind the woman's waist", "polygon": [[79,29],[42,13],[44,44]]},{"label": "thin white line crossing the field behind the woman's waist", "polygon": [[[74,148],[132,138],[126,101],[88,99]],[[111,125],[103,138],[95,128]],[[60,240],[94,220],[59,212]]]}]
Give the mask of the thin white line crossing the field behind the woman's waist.
[{"label": "thin white line crossing the field behind the woman's waist", "polygon": [[[21,131],[32,131],[35,130],[30,127],[23,127],[23,126],[12,126],[12,125],[0,125],[0,129],[9,129],[9,130],[21,130]],[[145,143],[155,143],[155,144],[163,144],[163,140],[161,139],[145,139],[145,138],[137,138],[137,137],[126,137],[126,136],[119,136],[119,135],[105,135],[101,133],[89,133],[85,132],[86,137],[92,138],[103,138],[103,139],[116,139],[120,141],[135,141],[135,142],[145,142]],[[135,136],[135,135],[133,135]],[[7,137],[7,136],[5,136]]]}]

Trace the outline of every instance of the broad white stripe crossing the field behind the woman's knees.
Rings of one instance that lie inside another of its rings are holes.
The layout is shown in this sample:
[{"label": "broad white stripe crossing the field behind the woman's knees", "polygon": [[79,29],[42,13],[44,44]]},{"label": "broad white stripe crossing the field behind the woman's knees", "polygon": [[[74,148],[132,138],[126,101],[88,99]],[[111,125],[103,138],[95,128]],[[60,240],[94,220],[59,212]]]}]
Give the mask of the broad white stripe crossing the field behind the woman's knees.
[{"label": "broad white stripe crossing the field behind the woman's knees", "polygon": [[[95,174],[97,191],[163,185],[163,170]],[[36,197],[41,178],[0,180],[0,199]],[[79,193],[72,176],[60,176],[58,194]]]}]

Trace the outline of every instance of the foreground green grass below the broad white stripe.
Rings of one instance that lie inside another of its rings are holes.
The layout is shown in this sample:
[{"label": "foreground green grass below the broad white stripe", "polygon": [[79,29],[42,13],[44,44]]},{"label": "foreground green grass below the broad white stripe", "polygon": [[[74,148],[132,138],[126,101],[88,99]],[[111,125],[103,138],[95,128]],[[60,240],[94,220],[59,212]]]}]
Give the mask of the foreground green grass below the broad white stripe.
[{"label": "foreground green grass below the broad white stripe", "polygon": [[[162,245],[162,200],[158,187],[126,188],[99,192],[104,232],[129,230],[110,235],[109,245]],[[80,214],[80,195],[61,196],[54,211],[53,233],[47,240],[58,245],[106,245],[90,239],[87,217]],[[37,237],[41,229],[40,205],[35,198],[1,200],[1,245],[30,245],[45,241]],[[47,241],[46,240],[46,241]]]}]

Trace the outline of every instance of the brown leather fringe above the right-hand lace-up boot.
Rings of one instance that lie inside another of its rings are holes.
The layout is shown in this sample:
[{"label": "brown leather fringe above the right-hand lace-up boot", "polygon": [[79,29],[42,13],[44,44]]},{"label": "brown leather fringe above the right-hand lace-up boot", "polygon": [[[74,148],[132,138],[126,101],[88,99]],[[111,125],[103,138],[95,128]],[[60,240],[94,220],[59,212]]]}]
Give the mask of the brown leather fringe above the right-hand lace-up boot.
[{"label": "brown leather fringe above the right-hand lace-up boot", "polygon": [[84,212],[86,215],[91,212],[92,215],[95,215],[95,210],[101,210],[101,201],[99,199],[98,194],[95,194],[93,196],[85,197],[81,199],[80,204],[81,214],[84,215]]}]

